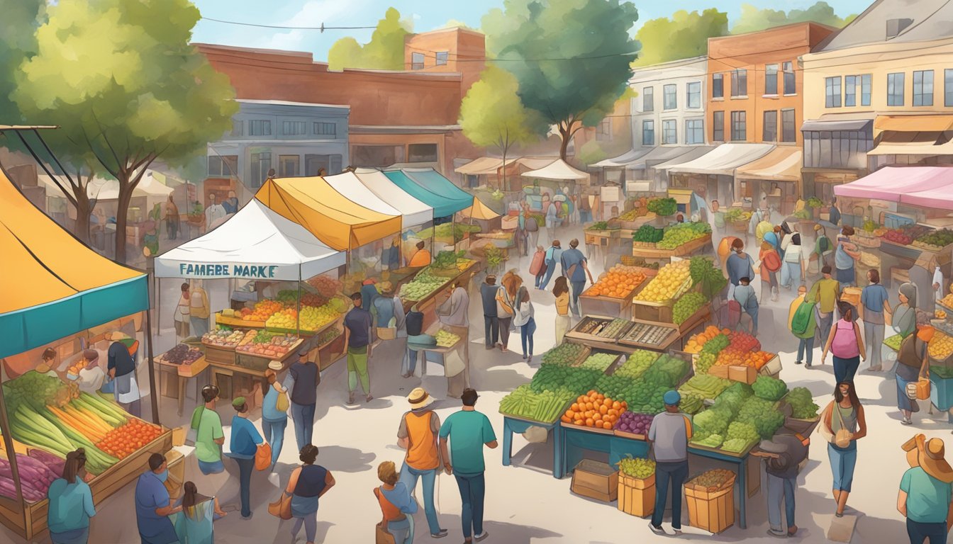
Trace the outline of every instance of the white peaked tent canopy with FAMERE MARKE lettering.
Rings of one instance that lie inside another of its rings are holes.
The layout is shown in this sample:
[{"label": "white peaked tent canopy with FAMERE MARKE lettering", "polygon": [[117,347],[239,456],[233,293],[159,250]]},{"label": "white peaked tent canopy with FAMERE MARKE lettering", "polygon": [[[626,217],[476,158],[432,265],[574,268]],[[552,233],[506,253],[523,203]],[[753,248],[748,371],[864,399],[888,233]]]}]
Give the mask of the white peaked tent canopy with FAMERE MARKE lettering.
[{"label": "white peaked tent canopy with FAMERE MARKE lettering", "polygon": [[156,257],[155,276],[300,281],[346,261],[345,252],[253,198],[217,229]]}]

